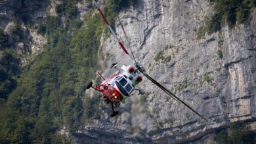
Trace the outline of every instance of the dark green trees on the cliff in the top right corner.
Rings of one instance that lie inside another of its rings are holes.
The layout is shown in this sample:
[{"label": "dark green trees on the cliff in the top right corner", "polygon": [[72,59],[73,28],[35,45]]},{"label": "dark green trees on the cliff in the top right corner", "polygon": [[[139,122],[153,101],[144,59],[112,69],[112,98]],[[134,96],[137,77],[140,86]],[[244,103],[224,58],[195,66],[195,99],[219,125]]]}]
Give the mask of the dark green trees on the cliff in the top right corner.
[{"label": "dark green trees on the cliff in the top right corner", "polygon": [[205,26],[198,29],[197,39],[203,39],[205,33],[214,33],[221,30],[224,24],[234,27],[242,24],[249,18],[250,10],[255,8],[255,0],[214,0],[215,12]]}]

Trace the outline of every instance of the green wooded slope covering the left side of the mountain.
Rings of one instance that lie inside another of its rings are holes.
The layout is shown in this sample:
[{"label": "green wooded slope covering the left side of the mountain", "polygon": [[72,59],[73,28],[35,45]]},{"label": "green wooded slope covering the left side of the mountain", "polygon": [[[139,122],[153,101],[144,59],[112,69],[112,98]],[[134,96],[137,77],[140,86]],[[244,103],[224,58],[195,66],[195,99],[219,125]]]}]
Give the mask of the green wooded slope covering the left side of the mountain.
[{"label": "green wooded slope covering the left side of the mountain", "polygon": [[[69,132],[75,132],[85,120],[100,116],[100,96],[87,96],[85,84],[95,77],[99,67],[98,47],[105,26],[95,10],[81,22],[76,3],[66,0],[57,5],[58,16],[47,16],[37,26],[48,43],[20,78],[16,77],[20,59],[15,52],[3,52],[1,65],[5,67],[0,67],[0,92],[5,100],[0,106],[1,143],[66,143],[68,140],[56,133],[60,128],[65,126]],[[105,1],[104,12],[113,21],[117,12],[130,3]],[[0,37],[5,38],[3,31]],[[5,39],[1,45],[4,43]]]}]

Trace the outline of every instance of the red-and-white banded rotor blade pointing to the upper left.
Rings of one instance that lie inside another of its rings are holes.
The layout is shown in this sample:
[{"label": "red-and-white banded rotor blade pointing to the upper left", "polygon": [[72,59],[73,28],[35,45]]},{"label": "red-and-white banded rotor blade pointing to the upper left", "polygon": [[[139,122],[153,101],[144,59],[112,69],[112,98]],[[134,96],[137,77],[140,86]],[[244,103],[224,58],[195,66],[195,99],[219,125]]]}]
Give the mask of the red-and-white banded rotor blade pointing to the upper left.
[{"label": "red-and-white banded rotor blade pointing to the upper left", "polygon": [[135,63],[135,60],[133,60],[133,58],[131,57],[131,54],[129,54],[129,52],[126,50],[125,46],[123,46],[123,43],[121,43],[120,39],[117,37],[116,32],[112,29],[112,27],[110,26],[110,23],[108,22],[108,20],[106,19],[106,16],[103,14],[102,10],[100,9],[100,7],[97,5],[96,1],[95,1],[95,6],[98,9],[98,12],[100,12],[100,16],[102,17],[102,19],[104,20],[105,24],[108,26],[108,29],[110,29],[110,32],[112,33],[112,35],[114,35],[117,43],[119,44],[119,46],[123,49],[123,52],[125,52],[125,54],[127,54],[129,56],[129,58],[131,58],[132,62]]}]

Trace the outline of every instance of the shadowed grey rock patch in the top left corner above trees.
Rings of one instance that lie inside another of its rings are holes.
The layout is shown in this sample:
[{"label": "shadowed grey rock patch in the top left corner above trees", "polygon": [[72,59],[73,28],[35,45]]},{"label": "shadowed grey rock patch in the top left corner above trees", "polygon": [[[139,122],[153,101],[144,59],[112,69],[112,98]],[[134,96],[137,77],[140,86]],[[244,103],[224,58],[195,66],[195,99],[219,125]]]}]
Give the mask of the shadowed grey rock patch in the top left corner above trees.
[{"label": "shadowed grey rock patch in the top left corner above trees", "polygon": [[40,23],[47,15],[47,9],[51,8],[51,1],[0,1],[0,28],[12,35],[16,25],[19,30],[19,38],[10,37],[7,47],[14,48],[22,55],[38,53],[43,50],[46,40],[38,35],[32,24]]}]

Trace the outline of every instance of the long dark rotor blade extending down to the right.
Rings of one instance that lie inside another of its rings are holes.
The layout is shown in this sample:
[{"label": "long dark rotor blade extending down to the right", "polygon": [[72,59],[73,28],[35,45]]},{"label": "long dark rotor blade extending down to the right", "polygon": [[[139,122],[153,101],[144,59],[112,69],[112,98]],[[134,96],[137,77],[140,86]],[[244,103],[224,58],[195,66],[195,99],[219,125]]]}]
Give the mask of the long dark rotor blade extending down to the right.
[{"label": "long dark rotor blade extending down to the right", "polygon": [[186,107],[188,107],[191,111],[193,111],[194,113],[196,113],[196,115],[198,115],[199,117],[203,118],[204,120],[208,121],[206,118],[204,118],[202,115],[200,115],[197,111],[195,111],[194,109],[192,109],[192,107],[190,107],[188,104],[186,104],[184,101],[182,101],[181,99],[179,99],[177,96],[175,96],[175,94],[173,94],[172,92],[170,92],[169,90],[167,90],[165,87],[163,87],[159,82],[157,82],[156,80],[154,80],[152,77],[150,77],[147,73],[145,73],[144,71],[140,71],[141,73],[143,73],[143,75],[145,75],[146,78],[148,78],[150,81],[152,81],[154,84],[156,84],[159,88],[161,88],[161,90],[163,90],[166,94],[168,94],[169,96],[171,96],[171,98],[175,99],[176,101],[179,101],[181,103],[183,103],[184,105],[186,105]]}]

